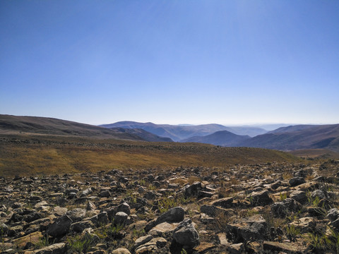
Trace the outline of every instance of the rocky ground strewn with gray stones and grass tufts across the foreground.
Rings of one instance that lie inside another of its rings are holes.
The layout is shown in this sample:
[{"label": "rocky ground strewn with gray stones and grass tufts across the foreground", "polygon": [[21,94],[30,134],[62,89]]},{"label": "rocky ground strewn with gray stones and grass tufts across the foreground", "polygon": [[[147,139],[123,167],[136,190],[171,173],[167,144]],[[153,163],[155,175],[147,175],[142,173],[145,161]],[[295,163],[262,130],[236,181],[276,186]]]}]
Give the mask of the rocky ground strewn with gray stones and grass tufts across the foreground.
[{"label": "rocky ground strewn with gray stones and grass tufts across the foreground", "polygon": [[338,253],[339,162],[0,179],[1,253]]}]

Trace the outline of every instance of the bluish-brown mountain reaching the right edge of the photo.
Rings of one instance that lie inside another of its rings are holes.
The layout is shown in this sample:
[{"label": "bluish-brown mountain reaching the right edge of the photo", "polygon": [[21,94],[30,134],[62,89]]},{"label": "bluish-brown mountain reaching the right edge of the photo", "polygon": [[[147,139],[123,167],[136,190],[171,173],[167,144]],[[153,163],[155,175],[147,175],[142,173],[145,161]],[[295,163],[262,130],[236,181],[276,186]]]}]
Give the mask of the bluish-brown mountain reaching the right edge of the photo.
[{"label": "bluish-brown mountain reaching the right edge of the photo", "polygon": [[278,128],[237,144],[276,150],[328,149],[339,151],[339,124]]}]

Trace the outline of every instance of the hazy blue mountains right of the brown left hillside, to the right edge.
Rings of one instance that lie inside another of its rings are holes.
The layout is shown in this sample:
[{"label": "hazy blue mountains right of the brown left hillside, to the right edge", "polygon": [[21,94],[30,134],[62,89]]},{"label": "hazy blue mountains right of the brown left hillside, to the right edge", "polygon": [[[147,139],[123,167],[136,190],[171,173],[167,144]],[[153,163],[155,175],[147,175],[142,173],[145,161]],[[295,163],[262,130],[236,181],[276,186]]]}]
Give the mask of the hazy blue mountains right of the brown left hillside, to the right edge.
[{"label": "hazy blue mountains right of the brown left hillside, to the right edge", "polygon": [[102,126],[141,128],[178,142],[208,143],[227,147],[261,147],[284,151],[302,149],[339,151],[339,124],[284,126],[273,131],[253,126],[228,127],[220,124],[173,126],[133,121],[120,121]]}]

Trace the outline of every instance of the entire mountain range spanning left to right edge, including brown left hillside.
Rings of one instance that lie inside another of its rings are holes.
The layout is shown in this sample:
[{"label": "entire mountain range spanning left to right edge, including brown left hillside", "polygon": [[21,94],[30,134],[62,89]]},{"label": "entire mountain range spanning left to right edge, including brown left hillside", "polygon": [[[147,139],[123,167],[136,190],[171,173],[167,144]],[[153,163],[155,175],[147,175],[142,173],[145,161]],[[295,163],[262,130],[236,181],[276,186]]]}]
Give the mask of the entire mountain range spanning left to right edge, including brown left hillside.
[{"label": "entire mountain range spanning left to right edge, including brown left hillside", "polygon": [[[255,136],[254,133],[259,133]],[[121,121],[102,126],[35,116],[0,115],[0,134],[68,135],[150,142],[208,143],[275,150],[326,149],[339,152],[339,124],[284,126],[273,131],[220,124],[168,125]]]}]

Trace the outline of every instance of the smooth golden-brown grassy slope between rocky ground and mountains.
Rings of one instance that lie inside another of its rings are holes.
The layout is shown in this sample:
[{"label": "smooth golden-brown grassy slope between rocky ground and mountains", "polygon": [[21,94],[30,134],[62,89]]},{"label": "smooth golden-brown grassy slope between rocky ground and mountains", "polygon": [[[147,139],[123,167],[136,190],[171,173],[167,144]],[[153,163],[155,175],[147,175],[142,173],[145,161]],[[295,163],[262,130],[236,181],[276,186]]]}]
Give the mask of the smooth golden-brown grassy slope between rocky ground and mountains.
[{"label": "smooth golden-brown grassy slope between rocky ground and mountains", "polygon": [[273,161],[299,162],[299,159],[285,152],[261,148],[0,135],[0,176],[95,172],[114,168],[229,167]]}]

